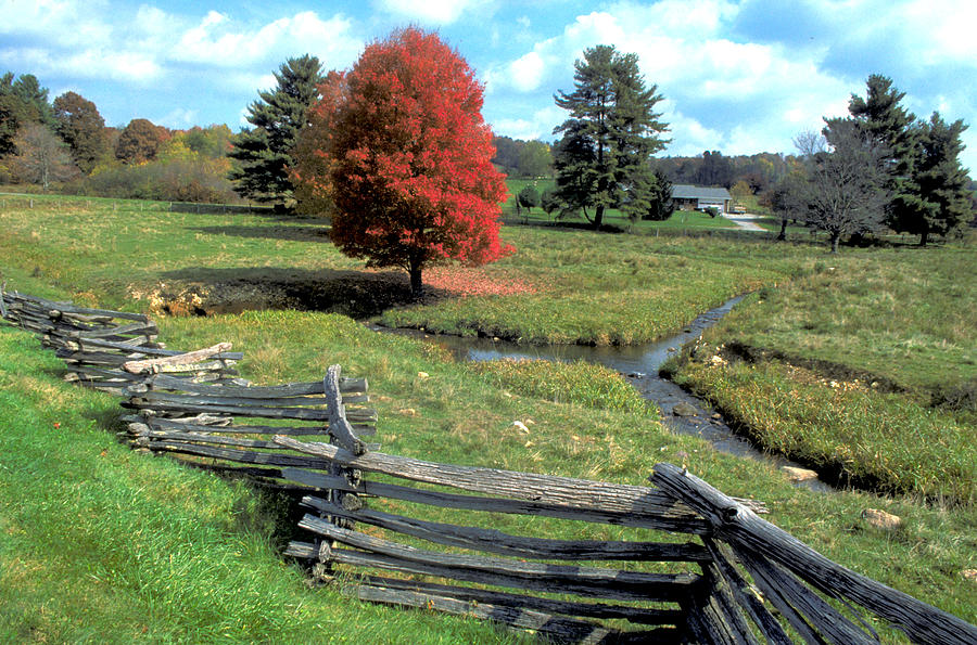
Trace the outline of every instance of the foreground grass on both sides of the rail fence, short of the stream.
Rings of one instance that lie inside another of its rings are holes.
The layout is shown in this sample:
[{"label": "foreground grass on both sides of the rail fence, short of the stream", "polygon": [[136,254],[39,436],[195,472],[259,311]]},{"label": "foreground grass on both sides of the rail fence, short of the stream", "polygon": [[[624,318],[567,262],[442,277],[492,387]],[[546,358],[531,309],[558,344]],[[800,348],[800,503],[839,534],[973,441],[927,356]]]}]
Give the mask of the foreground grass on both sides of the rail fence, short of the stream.
[{"label": "foreground grass on both sides of the rail fence, short of the stream", "polygon": [[[268,383],[316,377],[333,361],[348,374],[368,374],[381,413],[379,438],[394,453],[630,483],[642,483],[657,461],[687,460],[694,472],[731,494],[766,501],[772,521],[829,557],[977,618],[972,583],[959,573],[977,566],[973,513],[794,489],[770,467],[664,433],[626,395],[610,409],[536,398],[541,383],[572,380],[563,367],[537,372],[529,384],[504,373],[483,377],[481,369],[447,362],[416,341],[377,336],[348,319],[315,313],[170,319],[163,335],[175,346],[230,339],[249,357],[245,374]],[[0,433],[0,467],[14,474],[4,478],[0,493],[0,615],[9,617],[10,633],[127,641],[145,629],[147,640],[314,642],[346,633],[333,627],[343,622],[357,625],[352,637],[378,642],[403,634],[417,642],[448,634],[471,642],[500,637],[462,621],[365,607],[329,590],[305,590],[299,572],[276,557],[272,526],[251,493],[128,452],[111,435],[117,425],[110,397],[58,383],[56,361],[26,334],[3,330],[0,341],[3,408],[21,420],[18,431]],[[17,376],[13,365],[21,370]],[[421,371],[429,376],[419,376]],[[585,390],[617,378],[592,375],[576,387],[579,398],[586,400]],[[529,436],[511,425],[517,418],[529,423]],[[859,519],[865,506],[903,516],[908,528],[896,536],[872,530]],[[492,523],[503,530],[562,537],[626,534],[557,521],[520,527],[515,518],[493,517]],[[118,631],[118,624],[130,628]]]}]

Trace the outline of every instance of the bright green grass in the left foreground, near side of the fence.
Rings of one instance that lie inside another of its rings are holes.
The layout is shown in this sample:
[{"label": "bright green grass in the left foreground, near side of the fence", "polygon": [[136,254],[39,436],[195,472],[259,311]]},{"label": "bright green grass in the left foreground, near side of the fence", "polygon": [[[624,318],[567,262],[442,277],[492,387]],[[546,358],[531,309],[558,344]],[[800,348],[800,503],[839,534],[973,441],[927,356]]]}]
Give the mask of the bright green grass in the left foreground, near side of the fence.
[{"label": "bright green grass in the left foreground, near side of the fence", "polygon": [[0,641],[511,641],[310,591],[280,556],[275,500],[131,452],[113,434],[117,401],[60,371],[0,328]]}]

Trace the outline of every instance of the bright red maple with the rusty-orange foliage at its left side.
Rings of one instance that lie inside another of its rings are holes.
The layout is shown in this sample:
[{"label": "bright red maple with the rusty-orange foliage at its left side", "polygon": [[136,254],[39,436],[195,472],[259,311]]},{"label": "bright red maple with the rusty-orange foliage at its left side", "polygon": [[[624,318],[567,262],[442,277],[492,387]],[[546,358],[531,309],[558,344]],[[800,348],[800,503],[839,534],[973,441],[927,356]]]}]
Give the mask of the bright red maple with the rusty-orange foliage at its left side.
[{"label": "bright red maple with the rusty-orange foliage at its left side", "polygon": [[512,253],[498,236],[506,185],[482,85],[435,34],[395,31],[319,89],[292,179],[300,199],[329,204],[345,255],[404,268],[417,297],[426,267]]}]

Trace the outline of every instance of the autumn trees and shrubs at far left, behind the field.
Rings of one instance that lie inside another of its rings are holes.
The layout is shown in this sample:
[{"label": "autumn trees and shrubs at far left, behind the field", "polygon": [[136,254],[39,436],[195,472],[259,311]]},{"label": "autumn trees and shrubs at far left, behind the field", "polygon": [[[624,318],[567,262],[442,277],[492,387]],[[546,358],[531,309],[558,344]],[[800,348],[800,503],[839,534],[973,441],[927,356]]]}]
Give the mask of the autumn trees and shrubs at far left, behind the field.
[{"label": "autumn trees and shrubs at far left, behind the field", "polygon": [[225,125],[170,130],[136,118],[107,127],[76,92],[53,101],[31,74],[0,77],[0,183],[97,196],[236,199]]}]

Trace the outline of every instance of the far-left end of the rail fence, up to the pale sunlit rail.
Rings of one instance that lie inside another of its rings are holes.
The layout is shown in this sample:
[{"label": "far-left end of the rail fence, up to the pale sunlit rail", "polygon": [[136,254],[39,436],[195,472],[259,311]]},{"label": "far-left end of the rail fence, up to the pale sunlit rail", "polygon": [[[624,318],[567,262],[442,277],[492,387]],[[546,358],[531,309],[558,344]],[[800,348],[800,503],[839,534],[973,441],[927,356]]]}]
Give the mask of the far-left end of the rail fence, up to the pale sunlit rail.
[{"label": "far-left end of the rail fence, up to the pale sunlit rail", "polygon": [[[65,379],[86,387],[120,394],[151,371],[195,382],[245,383],[233,369],[242,354],[230,351],[229,344],[190,352],[166,349],[156,340],[156,323],[141,313],[0,289],[0,314],[53,349],[68,370]],[[132,369],[125,370],[126,363]]]}]

